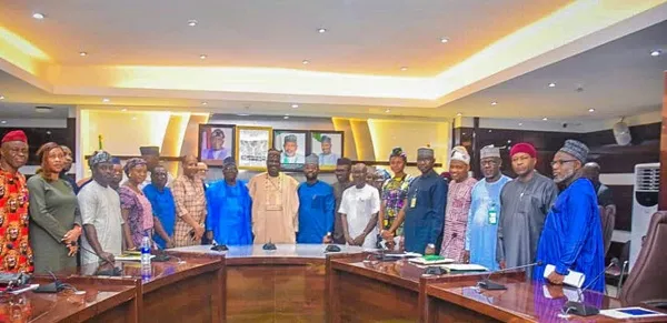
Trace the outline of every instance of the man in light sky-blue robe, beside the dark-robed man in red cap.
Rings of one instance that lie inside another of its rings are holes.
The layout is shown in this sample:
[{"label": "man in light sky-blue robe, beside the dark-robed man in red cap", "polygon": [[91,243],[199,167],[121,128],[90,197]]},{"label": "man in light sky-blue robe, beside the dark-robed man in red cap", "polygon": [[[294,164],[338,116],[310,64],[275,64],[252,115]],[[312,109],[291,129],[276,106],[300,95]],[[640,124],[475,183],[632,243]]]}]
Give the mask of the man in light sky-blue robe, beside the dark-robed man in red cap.
[{"label": "man in light sky-blue robe, beside the dark-robed man in red cap", "polygon": [[487,145],[479,154],[484,179],[472,188],[464,260],[495,271],[500,191],[511,179],[500,173],[500,149]]}]

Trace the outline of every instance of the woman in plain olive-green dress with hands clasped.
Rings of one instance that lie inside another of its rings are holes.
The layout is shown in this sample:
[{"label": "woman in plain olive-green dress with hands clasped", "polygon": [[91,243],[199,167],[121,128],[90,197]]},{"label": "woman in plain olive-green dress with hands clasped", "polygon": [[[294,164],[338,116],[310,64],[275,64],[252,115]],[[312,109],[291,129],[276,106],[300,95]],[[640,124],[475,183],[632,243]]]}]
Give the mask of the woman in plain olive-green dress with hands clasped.
[{"label": "woman in plain olive-green dress with hands clasped", "polygon": [[[37,151],[37,157],[41,161],[41,172],[28,180],[34,272],[74,268],[77,240],[81,235],[81,214],[72,185],[60,178],[64,152],[59,144],[48,142]],[[27,222],[21,219],[21,224],[9,223],[6,238],[11,241]],[[29,248],[28,241],[17,241],[13,245],[18,252]]]}]

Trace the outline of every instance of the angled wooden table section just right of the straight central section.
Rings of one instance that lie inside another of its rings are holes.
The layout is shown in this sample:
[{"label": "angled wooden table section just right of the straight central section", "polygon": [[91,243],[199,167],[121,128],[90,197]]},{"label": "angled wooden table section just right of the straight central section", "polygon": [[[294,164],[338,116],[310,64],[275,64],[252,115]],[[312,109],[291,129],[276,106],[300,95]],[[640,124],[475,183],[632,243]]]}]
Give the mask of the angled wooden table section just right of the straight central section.
[{"label": "angled wooden table section just right of the straight central section", "polygon": [[[328,322],[419,322],[428,311],[427,285],[475,284],[488,274],[424,275],[424,271],[406,260],[382,262],[372,256],[331,256],[327,264]],[[522,272],[502,275],[524,280]]]}]

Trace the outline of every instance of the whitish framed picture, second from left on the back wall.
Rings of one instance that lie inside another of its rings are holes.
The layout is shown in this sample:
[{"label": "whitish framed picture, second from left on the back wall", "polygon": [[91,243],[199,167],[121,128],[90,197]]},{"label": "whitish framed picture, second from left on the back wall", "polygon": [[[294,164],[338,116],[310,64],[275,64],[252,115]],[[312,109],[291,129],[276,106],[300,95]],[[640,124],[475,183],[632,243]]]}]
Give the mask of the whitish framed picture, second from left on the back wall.
[{"label": "whitish framed picture, second from left on the back wall", "polygon": [[263,171],[273,138],[270,127],[236,127],[239,170]]}]

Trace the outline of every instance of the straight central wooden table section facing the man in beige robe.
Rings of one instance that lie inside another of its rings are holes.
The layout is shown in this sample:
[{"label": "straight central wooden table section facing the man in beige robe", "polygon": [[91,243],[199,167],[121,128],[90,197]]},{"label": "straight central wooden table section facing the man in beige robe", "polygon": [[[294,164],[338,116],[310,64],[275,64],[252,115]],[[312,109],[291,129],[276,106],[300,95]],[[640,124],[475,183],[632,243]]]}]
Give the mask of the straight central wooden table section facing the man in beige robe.
[{"label": "straight central wooden table section facing the man in beige robe", "polygon": [[[339,245],[341,253],[359,254],[358,246]],[[326,255],[323,244],[210,245],[175,252],[226,256],[227,322],[323,322]]]}]

